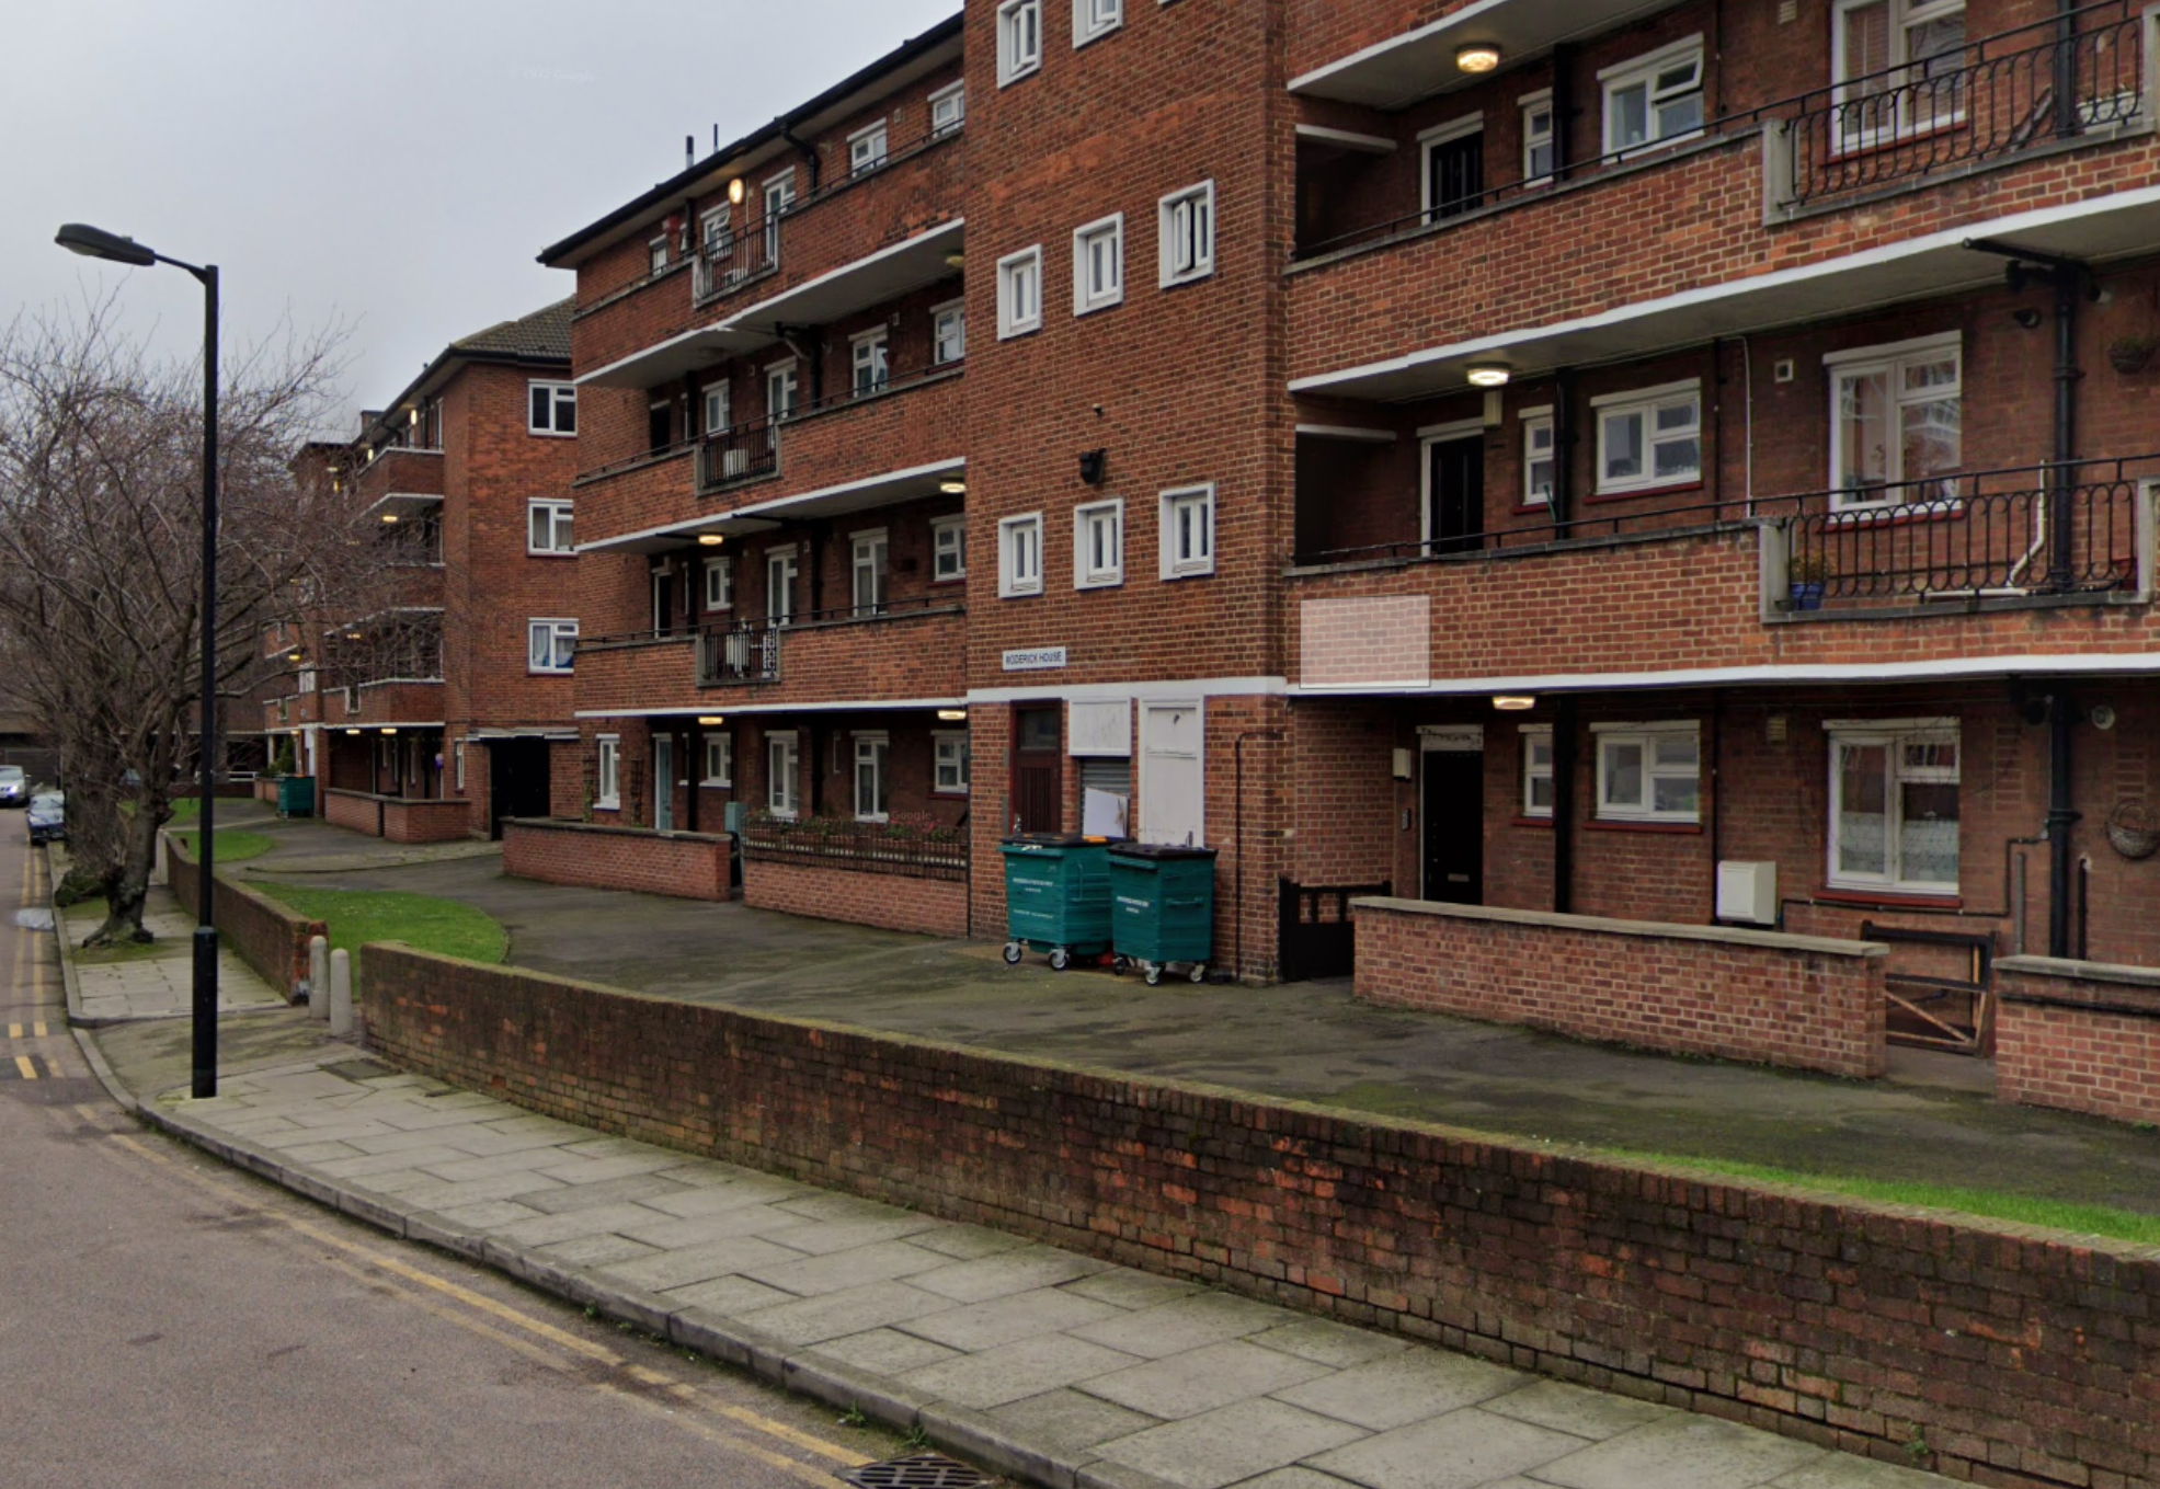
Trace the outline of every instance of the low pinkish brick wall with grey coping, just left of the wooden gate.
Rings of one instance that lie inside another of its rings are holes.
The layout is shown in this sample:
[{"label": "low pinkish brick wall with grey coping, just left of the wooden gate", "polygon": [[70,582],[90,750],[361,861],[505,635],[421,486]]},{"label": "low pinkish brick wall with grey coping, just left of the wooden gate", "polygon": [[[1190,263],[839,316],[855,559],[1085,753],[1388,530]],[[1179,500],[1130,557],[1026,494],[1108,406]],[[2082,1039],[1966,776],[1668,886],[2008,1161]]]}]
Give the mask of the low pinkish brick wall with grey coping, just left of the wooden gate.
[{"label": "low pinkish brick wall with grey coping, just left of the wooden gate", "polygon": [[1875,942],[1356,901],[1356,996],[1674,1055],[1884,1072]]}]

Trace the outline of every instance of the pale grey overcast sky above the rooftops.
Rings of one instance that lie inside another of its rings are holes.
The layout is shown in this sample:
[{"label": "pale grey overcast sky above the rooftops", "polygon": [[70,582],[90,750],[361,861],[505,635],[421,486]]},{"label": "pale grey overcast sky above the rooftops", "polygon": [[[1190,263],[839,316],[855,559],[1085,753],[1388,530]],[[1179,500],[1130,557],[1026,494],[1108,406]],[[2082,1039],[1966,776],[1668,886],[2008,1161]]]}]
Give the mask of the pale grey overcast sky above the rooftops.
[{"label": "pale grey overcast sky above the rooftops", "polygon": [[201,292],[54,246],[95,223],[222,272],[227,346],[354,324],[352,408],[572,292],[534,255],[959,0],[0,0],[0,322],[119,287],[192,354]]}]

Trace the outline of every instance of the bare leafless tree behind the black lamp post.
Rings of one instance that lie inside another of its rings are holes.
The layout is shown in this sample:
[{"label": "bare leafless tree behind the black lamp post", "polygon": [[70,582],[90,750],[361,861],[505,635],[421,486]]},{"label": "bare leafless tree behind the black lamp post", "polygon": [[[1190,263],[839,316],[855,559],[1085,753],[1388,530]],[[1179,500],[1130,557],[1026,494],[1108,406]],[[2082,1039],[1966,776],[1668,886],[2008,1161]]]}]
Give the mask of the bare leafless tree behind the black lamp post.
[{"label": "bare leafless tree behind the black lamp post", "polygon": [[[270,622],[363,614],[380,583],[352,504],[289,465],[341,341],[227,361],[216,681],[233,696]],[[201,367],[147,357],[110,300],[0,333],[0,666],[60,748],[78,869],[110,910],[91,944],[147,940],[158,830],[194,791],[199,553]]]}]

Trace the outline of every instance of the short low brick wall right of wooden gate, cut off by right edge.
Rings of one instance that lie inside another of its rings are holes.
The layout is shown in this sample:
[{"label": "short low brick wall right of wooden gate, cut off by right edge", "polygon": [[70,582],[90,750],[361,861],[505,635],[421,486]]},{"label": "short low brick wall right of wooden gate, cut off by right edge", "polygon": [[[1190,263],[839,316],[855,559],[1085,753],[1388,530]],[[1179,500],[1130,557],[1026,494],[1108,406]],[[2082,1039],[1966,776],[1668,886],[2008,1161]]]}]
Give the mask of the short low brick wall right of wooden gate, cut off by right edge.
[{"label": "short low brick wall right of wooden gate, cut off by right edge", "polygon": [[2160,1122],[2160,970],[1996,962],[1996,1096]]}]

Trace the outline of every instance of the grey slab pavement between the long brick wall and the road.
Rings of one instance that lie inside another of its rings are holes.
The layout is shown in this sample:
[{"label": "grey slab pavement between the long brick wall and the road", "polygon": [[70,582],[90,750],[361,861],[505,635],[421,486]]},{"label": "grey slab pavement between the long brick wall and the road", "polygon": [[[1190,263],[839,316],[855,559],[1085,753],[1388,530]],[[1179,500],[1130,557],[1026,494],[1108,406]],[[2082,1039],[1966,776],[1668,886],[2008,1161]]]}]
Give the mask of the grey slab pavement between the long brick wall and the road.
[{"label": "grey slab pavement between the long brick wall and the road", "polygon": [[1045,1485],[1946,1483],[596,1137],[343,1048],[145,1115],[348,1215]]}]

